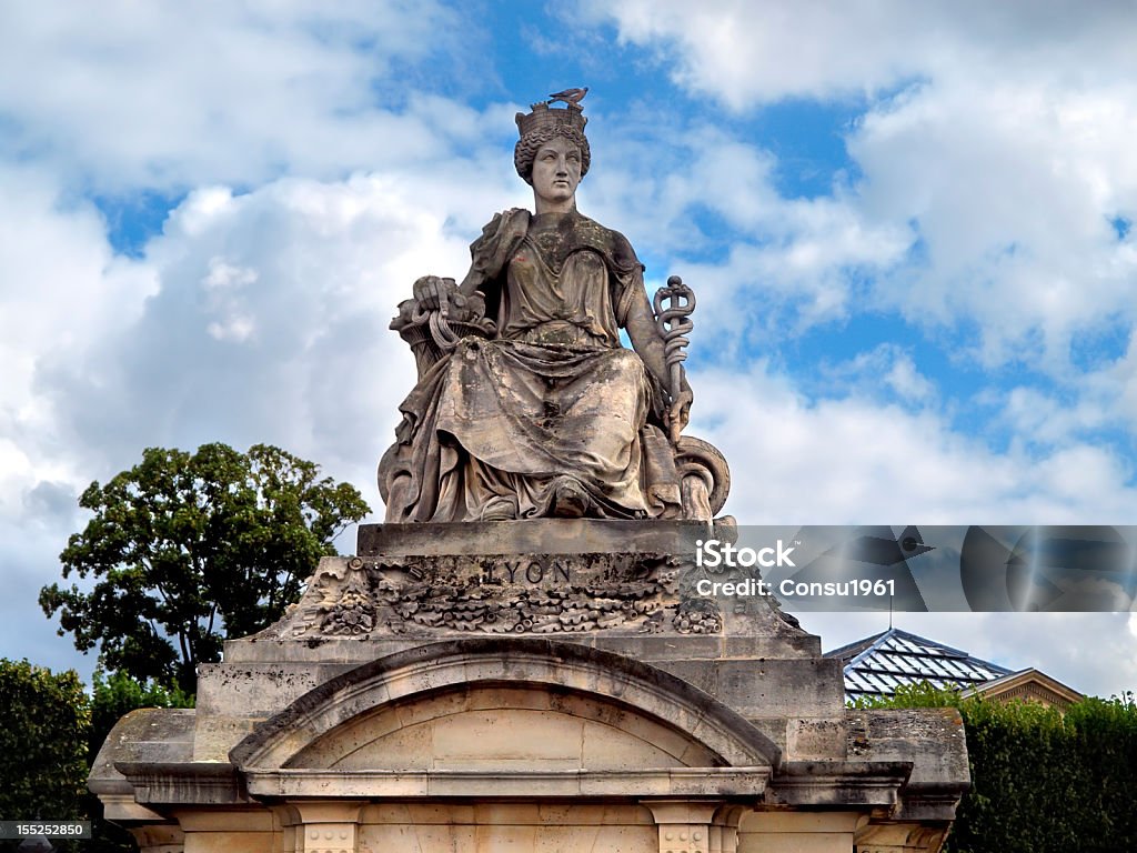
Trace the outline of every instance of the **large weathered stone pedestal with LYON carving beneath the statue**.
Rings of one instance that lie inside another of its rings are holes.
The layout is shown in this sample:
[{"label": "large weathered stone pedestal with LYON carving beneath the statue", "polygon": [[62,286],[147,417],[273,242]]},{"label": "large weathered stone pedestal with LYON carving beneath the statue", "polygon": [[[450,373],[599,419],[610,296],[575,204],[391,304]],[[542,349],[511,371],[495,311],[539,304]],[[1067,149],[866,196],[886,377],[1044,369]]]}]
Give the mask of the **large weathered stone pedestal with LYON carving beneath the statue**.
[{"label": "large weathered stone pedestal with LYON carving beneath the statue", "polygon": [[144,850],[938,850],[953,711],[848,711],[777,603],[691,594],[688,522],[365,527],[136,711],[90,785]]}]

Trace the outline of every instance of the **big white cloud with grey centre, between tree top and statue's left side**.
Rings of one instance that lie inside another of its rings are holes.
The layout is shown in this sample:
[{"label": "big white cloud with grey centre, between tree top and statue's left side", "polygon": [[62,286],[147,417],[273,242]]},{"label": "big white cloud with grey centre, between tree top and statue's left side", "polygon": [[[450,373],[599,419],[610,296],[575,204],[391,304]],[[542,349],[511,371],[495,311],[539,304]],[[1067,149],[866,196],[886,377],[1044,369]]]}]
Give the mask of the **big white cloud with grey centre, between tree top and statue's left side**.
[{"label": "big white cloud with grey centre, between tree top and statue's left side", "polygon": [[[387,325],[420,275],[464,274],[471,238],[517,200],[504,173],[475,150],[429,172],[204,187],[134,262],[113,256],[90,207],[55,213],[41,188],[40,215],[10,210],[27,257],[9,281],[33,320],[8,315],[26,370],[0,414],[40,415],[22,433],[38,472],[22,488],[58,479],[53,454],[89,481],[146,446],[268,441],[355,480],[377,507],[373,466],[414,374]],[[44,256],[67,266],[44,270]],[[44,272],[51,288],[36,289]],[[56,318],[61,305],[74,313]]]}]

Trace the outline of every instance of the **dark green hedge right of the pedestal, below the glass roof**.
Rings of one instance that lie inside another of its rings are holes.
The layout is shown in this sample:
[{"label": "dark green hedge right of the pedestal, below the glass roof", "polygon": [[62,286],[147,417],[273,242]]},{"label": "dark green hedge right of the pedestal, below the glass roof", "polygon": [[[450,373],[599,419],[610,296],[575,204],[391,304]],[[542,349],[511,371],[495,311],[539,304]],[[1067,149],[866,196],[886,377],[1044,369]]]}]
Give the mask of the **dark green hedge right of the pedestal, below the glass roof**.
[{"label": "dark green hedge right of the pedestal, below the glass roof", "polygon": [[1087,698],[1064,713],[1032,702],[961,698],[922,684],[866,707],[960,709],[971,789],[952,853],[1137,851],[1137,704]]}]

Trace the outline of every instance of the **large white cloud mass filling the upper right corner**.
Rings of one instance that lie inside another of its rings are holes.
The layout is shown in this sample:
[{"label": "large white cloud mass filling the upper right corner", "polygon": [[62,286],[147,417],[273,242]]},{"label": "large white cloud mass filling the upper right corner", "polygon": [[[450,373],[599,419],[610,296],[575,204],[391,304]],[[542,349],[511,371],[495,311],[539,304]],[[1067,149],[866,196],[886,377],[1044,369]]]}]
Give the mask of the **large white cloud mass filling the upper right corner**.
[{"label": "large white cloud mass filling the upper right corner", "polygon": [[[846,135],[860,174],[852,187],[835,184],[824,204],[752,196],[771,216],[745,223],[757,246],[739,252],[766,287],[812,300],[807,321],[840,315],[855,295],[847,273],[868,260],[874,306],[920,326],[978,329],[963,347],[987,365],[1040,362],[1069,376],[1080,336],[1132,323],[1137,252],[1117,227],[1137,217],[1130,8],[640,0],[587,8],[625,41],[657,51],[692,94],[739,113],[783,98],[864,103]],[[736,218],[746,216],[738,190],[755,169],[730,163],[747,157],[762,162],[745,149],[724,162],[740,177],[721,196]],[[736,264],[724,270],[740,280]]]}]

